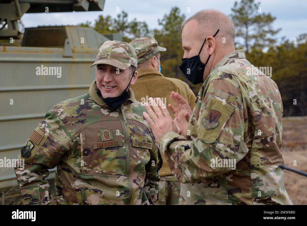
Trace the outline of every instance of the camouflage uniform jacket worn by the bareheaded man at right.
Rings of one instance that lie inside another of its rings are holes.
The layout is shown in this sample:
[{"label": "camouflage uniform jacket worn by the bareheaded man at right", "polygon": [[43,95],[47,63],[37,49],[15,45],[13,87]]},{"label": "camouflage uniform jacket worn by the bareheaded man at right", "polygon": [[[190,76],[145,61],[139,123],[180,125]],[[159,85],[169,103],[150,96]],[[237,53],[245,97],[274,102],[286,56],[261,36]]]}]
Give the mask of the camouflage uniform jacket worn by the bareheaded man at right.
[{"label": "camouflage uniform jacket worn by the bareheaded man at right", "polygon": [[278,167],[281,96],[273,80],[251,68],[243,50],[224,56],[200,88],[187,138],[168,132],[160,139],[184,183],[180,204],[292,204]]}]

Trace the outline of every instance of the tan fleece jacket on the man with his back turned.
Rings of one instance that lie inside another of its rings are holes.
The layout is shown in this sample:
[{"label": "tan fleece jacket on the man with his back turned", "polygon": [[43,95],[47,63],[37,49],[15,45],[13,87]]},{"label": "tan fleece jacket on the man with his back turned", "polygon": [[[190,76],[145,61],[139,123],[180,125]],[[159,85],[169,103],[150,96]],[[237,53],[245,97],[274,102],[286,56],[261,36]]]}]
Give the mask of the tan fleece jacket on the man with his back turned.
[{"label": "tan fleece jacket on the man with his back turned", "polygon": [[[188,101],[192,110],[195,107],[196,97],[185,82],[175,78],[164,77],[160,72],[150,68],[139,69],[137,71],[138,80],[134,85],[130,86],[136,100],[145,103],[148,102],[150,97],[160,97],[163,103],[167,106],[167,110],[173,119],[173,112],[168,107],[169,103],[174,106],[173,101],[170,98],[172,91],[179,93],[186,101]],[[164,155],[161,154],[161,156],[163,165],[160,169],[160,176],[173,175],[167,165]]]}]

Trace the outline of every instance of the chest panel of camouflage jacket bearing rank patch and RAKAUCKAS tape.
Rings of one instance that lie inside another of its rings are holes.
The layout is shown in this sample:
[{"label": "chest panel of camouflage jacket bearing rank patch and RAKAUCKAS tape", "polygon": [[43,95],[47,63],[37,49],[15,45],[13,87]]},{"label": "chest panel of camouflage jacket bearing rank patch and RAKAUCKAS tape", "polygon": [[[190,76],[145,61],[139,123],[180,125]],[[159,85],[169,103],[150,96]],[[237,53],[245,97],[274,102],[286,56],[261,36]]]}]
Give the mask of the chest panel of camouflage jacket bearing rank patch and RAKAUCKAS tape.
[{"label": "chest panel of camouflage jacket bearing rank patch and RAKAUCKAS tape", "polygon": [[124,134],[119,120],[99,121],[80,134],[81,173],[126,176]]}]

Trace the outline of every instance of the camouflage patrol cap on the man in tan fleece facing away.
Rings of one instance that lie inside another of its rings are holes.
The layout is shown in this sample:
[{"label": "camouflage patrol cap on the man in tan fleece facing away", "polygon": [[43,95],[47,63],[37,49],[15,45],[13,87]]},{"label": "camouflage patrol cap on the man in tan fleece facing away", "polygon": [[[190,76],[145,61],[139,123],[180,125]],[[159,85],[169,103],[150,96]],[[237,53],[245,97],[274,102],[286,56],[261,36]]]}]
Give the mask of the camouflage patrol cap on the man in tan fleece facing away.
[{"label": "camouflage patrol cap on the man in tan fleece facing away", "polygon": [[158,46],[154,38],[140,37],[132,40],[129,44],[133,46],[138,55],[138,64],[143,63],[159,51],[166,51],[166,48]]}]

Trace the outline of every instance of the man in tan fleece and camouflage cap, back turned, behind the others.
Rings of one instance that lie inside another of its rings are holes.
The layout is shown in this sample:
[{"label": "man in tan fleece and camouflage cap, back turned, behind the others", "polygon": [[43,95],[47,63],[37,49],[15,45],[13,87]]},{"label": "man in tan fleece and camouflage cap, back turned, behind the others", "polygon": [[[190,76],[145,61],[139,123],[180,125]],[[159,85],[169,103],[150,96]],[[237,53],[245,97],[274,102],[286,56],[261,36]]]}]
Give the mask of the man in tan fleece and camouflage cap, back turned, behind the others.
[{"label": "man in tan fleece and camouflage cap, back turned, behind the others", "polygon": [[[157,40],[140,37],[132,40],[129,44],[134,47],[138,56],[138,80],[131,86],[135,99],[145,103],[146,96],[161,97],[166,103],[173,104],[170,94],[174,91],[188,101],[191,108],[195,106],[196,97],[188,84],[176,78],[164,77],[161,74],[160,51],[166,51],[166,49],[158,46]],[[167,109],[174,118],[172,111],[168,107]],[[162,159],[164,164],[160,169],[161,180],[157,205],[177,205],[179,204],[180,182],[172,174],[163,155]]]}]

